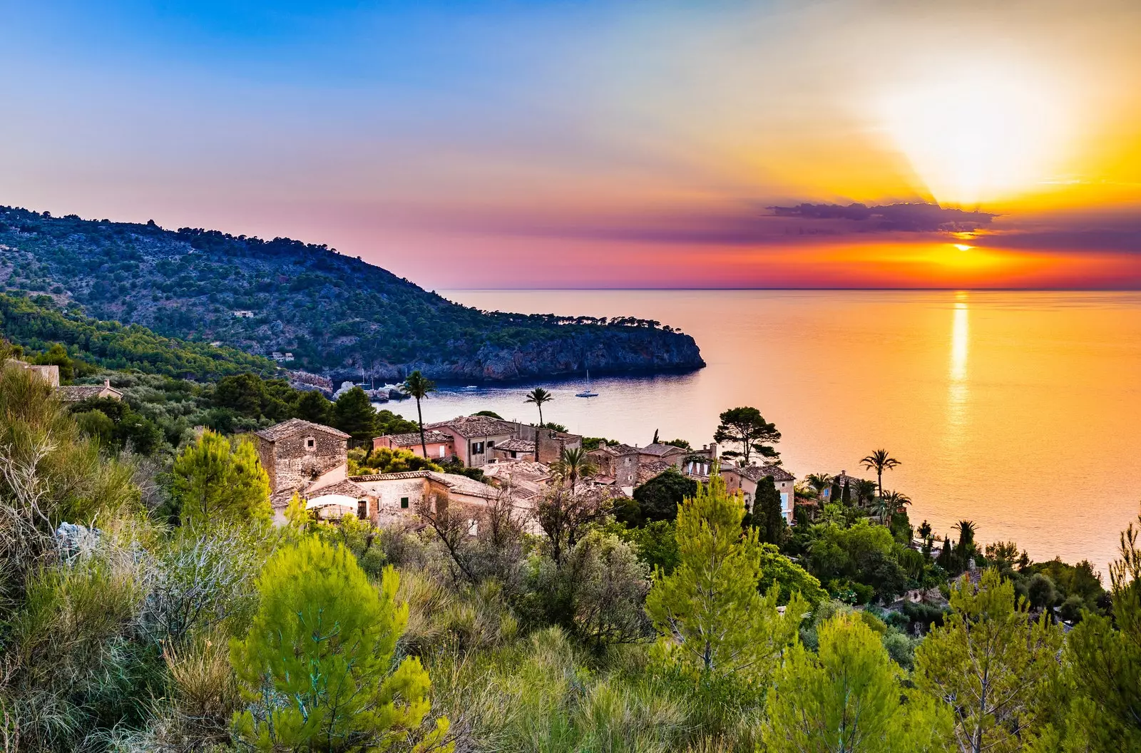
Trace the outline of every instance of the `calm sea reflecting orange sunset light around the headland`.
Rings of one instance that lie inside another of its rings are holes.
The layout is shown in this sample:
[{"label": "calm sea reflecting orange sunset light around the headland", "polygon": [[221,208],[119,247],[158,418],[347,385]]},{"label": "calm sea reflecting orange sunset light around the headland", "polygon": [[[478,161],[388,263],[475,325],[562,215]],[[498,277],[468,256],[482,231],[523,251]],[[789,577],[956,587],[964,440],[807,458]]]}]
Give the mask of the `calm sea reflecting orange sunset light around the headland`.
[{"label": "calm sea reflecting orange sunset light around the headland", "polygon": [[[881,291],[451,291],[485,309],[630,315],[694,335],[695,373],[475,392],[442,391],[426,420],[479,410],[537,420],[524,394],[556,398],[548,421],[646,444],[694,445],[718,413],[753,405],[784,437],[785,465],[859,471],[888,448],[884,485],[940,534],[970,519],[982,542],[1035,559],[1114,558],[1141,499],[1141,293]],[[388,407],[415,418],[411,402]],[[861,472],[865,477],[871,473]]]}]

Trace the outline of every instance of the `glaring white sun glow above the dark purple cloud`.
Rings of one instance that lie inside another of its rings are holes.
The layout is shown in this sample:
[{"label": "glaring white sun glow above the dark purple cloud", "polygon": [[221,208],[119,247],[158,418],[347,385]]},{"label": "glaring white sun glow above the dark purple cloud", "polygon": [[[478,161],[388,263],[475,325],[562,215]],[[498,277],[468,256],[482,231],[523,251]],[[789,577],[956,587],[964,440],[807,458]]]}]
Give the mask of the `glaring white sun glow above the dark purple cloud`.
[{"label": "glaring white sun glow above the dark purple cloud", "polygon": [[1071,130],[1060,88],[997,64],[900,87],[880,111],[883,130],[941,204],[1033,191],[1054,175]]}]

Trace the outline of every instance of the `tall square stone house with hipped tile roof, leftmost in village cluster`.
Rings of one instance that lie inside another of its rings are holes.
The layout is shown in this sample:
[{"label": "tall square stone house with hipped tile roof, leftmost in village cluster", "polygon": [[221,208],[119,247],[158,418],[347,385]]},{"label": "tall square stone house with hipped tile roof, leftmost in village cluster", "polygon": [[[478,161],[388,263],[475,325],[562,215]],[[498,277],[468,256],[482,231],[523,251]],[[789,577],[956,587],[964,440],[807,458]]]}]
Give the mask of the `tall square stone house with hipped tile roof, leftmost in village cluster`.
[{"label": "tall square stone house with hipped tile roof, leftmost in village cluster", "polygon": [[343,431],[290,419],[253,436],[274,494],[316,489],[348,477],[349,435]]}]

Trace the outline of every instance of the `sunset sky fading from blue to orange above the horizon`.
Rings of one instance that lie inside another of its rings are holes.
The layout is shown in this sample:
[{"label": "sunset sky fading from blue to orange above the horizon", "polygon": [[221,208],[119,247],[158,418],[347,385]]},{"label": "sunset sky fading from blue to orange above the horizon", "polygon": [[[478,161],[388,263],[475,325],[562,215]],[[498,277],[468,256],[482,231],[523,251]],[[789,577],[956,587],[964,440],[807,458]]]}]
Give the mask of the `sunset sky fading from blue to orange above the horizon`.
[{"label": "sunset sky fading from blue to orange above the horizon", "polygon": [[0,204],[327,243],[429,289],[1141,288],[1130,0],[0,18]]}]

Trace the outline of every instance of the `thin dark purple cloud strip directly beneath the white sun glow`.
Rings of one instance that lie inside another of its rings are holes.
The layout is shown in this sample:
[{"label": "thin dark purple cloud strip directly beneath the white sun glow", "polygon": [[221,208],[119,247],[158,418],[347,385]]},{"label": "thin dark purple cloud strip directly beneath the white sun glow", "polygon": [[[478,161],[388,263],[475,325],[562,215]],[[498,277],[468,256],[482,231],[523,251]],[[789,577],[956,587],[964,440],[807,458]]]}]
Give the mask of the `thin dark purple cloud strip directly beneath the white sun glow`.
[{"label": "thin dark purple cloud strip directly beneath the white sun glow", "polygon": [[989,225],[997,214],[963,209],[945,209],[938,204],[798,204],[796,207],[769,207],[777,217],[808,220],[848,220],[860,225],[852,228],[881,233],[962,233],[977,230]]}]

